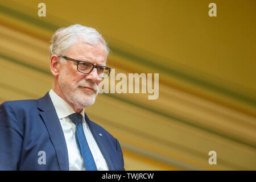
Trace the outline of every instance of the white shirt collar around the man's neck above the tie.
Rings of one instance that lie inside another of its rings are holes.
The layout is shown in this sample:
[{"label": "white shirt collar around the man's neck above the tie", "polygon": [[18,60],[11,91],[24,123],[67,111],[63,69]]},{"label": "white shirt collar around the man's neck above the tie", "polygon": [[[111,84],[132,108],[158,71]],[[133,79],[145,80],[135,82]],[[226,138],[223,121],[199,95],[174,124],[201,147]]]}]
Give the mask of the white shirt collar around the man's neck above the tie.
[{"label": "white shirt collar around the man's neck above the tie", "polygon": [[[53,106],[55,107],[59,119],[68,117],[69,115],[76,113],[76,111],[73,110],[73,108],[68,105],[68,103],[64,101],[63,98],[58,96],[52,89],[49,91],[49,96],[51,97]],[[84,118],[84,109],[82,109],[80,114],[82,114],[82,117]]]}]

